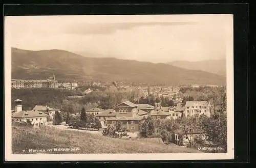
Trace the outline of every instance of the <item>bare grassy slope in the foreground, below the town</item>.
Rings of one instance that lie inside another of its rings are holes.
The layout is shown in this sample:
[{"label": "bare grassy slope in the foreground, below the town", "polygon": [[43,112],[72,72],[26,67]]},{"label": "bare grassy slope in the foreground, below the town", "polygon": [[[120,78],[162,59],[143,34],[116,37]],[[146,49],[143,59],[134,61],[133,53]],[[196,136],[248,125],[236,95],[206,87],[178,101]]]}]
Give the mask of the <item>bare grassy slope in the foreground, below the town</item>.
[{"label": "bare grassy slope in the foreground, below the town", "polygon": [[[56,151],[56,149],[72,149]],[[55,151],[54,151],[55,149]],[[76,150],[73,150],[76,149]],[[78,150],[77,150],[78,149]],[[29,151],[30,150],[30,151]],[[61,130],[52,127],[13,127],[12,153],[197,153],[197,150],[150,142],[129,141],[88,132]],[[52,151],[51,151],[52,150]]]}]

